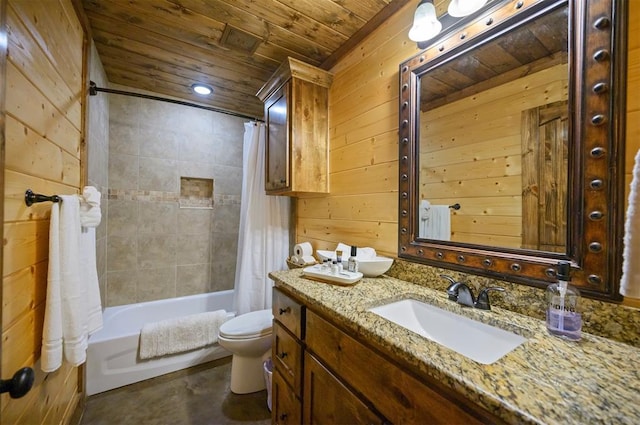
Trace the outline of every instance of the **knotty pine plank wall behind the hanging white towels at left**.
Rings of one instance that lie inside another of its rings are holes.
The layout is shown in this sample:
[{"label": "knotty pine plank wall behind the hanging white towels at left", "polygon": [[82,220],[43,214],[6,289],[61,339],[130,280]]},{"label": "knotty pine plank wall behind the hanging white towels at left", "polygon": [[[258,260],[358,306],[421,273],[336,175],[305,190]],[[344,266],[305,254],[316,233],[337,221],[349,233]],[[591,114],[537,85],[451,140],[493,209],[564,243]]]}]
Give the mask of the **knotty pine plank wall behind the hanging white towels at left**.
[{"label": "knotty pine plank wall behind the hanging white towels at left", "polygon": [[80,399],[78,369],[40,371],[51,204],[27,208],[27,188],[81,185],[84,34],[69,0],[8,0],[2,372],[36,371],[23,398],[2,395],[1,422],[67,423]]}]

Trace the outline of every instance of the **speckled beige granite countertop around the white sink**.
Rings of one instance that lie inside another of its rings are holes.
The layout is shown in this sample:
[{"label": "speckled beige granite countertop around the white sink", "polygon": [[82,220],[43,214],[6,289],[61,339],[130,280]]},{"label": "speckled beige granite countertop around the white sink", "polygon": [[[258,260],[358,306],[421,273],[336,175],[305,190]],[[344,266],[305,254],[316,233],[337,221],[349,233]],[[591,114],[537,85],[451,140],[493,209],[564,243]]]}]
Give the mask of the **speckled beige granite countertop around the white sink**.
[{"label": "speckled beige granite countertop around the white sink", "polygon": [[[640,423],[638,348],[584,332],[579,342],[564,341],[549,335],[541,320],[499,307],[463,307],[443,291],[387,276],[339,286],[302,273],[294,269],[269,276],[311,309],[509,423]],[[496,324],[527,342],[483,365],[367,311],[403,298]]]}]

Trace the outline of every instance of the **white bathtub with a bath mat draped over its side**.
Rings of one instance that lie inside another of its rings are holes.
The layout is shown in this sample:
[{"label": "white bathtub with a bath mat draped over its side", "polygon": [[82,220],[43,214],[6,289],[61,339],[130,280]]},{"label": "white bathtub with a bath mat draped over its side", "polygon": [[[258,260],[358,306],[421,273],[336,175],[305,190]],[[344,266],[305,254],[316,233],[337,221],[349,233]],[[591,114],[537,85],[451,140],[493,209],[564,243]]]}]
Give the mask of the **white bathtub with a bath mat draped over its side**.
[{"label": "white bathtub with a bath mat draped over its side", "polygon": [[87,395],[230,356],[227,350],[213,344],[185,353],[140,360],[138,342],[145,323],[220,309],[233,317],[232,308],[233,290],[107,307],[103,328],[89,337]]}]

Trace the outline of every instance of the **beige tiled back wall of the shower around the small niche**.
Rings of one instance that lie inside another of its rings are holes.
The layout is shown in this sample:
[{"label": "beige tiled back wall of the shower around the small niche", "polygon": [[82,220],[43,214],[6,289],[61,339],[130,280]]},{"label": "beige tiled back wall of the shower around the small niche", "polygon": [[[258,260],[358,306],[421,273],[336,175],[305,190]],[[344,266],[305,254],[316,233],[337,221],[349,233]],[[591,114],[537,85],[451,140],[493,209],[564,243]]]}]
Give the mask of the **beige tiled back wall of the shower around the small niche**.
[{"label": "beige tiled back wall of the shower around the small niche", "polygon": [[[246,120],[157,100],[109,96],[103,304],[232,289]],[[181,177],[212,179],[213,207],[180,207]]]}]

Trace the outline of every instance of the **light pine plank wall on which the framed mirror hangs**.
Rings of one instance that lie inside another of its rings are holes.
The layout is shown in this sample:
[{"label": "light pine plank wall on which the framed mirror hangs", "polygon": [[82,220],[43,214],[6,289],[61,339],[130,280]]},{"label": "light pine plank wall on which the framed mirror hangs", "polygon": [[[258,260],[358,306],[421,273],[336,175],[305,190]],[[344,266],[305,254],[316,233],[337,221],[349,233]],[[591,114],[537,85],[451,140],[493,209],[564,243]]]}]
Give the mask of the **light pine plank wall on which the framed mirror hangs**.
[{"label": "light pine plank wall on which the framed mirror hangs", "polygon": [[[629,3],[630,32],[637,34],[640,2]],[[415,6],[402,8],[331,69],[330,194],[298,199],[297,242],[314,249],[344,242],[397,256],[398,66],[418,52],[407,37]],[[639,43],[629,37],[627,141],[634,152],[640,148]]]}]

